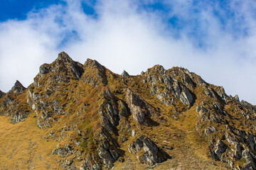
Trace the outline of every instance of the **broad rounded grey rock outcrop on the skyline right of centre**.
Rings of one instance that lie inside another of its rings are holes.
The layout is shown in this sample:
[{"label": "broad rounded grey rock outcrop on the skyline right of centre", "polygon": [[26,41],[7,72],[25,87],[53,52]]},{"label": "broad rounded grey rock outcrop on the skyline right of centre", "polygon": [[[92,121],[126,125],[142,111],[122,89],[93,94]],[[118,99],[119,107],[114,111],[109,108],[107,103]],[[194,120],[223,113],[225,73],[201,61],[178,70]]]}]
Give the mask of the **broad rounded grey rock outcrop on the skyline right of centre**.
[{"label": "broad rounded grey rock outcrop on the skyline right of centre", "polygon": [[[181,81],[176,79],[178,76],[181,77]],[[176,104],[177,100],[189,107],[193,105],[194,98],[191,91],[196,84],[188,70],[178,69],[170,72],[161,65],[156,65],[143,72],[142,77],[144,84],[151,86],[150,93],[167,106]]]}]

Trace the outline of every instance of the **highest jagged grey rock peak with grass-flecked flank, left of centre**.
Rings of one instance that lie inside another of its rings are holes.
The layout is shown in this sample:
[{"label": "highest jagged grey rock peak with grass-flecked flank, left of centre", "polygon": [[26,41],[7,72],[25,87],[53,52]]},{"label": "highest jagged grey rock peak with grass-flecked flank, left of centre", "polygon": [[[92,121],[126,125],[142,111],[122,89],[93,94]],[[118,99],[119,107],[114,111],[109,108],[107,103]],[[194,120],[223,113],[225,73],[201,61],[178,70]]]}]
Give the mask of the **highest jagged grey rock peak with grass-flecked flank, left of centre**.
[{"label": "highest jagged grey rock peak with grass-flecked flank, left of centre", "polygon": [[[78,81],[84,72],[83,65],[60,52],[51,64],[43,64],[33,84],[28,87],[28,103],[38,116],[39,128],[50,128],[53,115],[64,115],[70,101],[66,100],[71,80]],[[42,91],[43,93],[38,93]]]}]

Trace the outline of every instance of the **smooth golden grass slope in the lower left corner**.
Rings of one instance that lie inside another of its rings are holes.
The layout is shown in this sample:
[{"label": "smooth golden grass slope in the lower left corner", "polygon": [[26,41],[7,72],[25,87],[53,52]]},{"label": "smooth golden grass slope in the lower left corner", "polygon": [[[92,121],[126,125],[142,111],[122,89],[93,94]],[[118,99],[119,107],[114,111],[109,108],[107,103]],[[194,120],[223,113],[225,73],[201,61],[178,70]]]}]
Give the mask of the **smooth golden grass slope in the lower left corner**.
[{"label": "smooth golden grass slope in the lower left corner", "polygon": [[15,125],[0,116],[0,169],[60,169],[51,156],[57,142],[42,138],[47,131],[37,127],[32,115]]}]

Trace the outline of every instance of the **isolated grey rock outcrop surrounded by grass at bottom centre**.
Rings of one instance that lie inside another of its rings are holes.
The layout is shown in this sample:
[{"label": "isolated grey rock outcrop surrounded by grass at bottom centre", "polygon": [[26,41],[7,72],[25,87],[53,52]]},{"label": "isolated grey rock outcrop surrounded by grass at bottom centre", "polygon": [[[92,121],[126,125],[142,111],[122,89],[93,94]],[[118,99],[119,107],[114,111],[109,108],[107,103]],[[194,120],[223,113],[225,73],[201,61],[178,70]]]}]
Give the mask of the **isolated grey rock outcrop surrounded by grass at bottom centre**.
[{"label": "isolated grey rock outcrop surrounded by grass at bottom centre", "polygon": [[149,138],[145,136],[137,138],[137,140],[134,140],[134,142],[128,145],[128,150],[131,154],[137,154],[141,149],[143,149],[144,152],[139,154],[137,159],[142,164],[149,164],[150,166],[153,166],[156,163],[161,163],[167,159],[171,159],[169,154],[157,147],[153,141],[149,140]]}]

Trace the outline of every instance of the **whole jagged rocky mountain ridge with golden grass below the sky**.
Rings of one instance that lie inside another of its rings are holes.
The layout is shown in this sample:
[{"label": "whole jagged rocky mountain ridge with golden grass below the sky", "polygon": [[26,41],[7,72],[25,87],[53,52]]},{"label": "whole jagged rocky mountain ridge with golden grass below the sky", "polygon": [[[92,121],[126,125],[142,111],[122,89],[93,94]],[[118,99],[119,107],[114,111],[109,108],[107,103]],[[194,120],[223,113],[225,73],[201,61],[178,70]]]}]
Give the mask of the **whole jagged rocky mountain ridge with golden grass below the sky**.
[{"label": "whole jagged rocky mountain ridge with golden grass below the sky", "polygon": [[0,169],[256,169],[256,107],[188,69],[137,76],[60,52],[0,91]]}]

